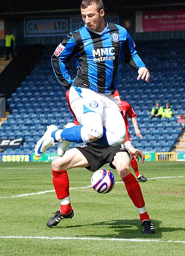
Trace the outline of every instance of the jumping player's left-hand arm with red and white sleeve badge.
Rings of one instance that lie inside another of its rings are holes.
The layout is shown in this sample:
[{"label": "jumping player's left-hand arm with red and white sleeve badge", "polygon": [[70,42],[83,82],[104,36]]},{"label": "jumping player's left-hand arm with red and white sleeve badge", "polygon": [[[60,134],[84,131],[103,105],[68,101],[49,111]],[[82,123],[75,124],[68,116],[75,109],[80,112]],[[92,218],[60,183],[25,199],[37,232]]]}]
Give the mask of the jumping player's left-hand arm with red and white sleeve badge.
[{"label": "jumping player's left-hand arm with red and white sleeve badge", "polygon": [[66,89],[69,89],[73,83],[68,70],[66,69],[66,62],[78,54],[78,46],[72,36],[68,36],[58,45],[52,56],[52,67],[56,78]]}]

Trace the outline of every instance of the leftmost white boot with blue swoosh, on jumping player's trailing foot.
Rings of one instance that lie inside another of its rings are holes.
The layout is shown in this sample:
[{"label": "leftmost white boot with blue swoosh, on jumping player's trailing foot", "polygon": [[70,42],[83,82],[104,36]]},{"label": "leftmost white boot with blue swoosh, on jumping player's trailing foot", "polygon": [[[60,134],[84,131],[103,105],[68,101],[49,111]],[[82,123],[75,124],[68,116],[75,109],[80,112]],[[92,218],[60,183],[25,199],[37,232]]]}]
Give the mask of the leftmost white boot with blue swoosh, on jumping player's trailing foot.
[{"label": "leftmost white boot with blue swoosh, on jumping player's trailing foot", "polygon": [[47,130],[42,136],[42,138],[37,142],[35,146],[35,155],[37,157],[42,156],[42,154],[51,146],[56,144],[54,142],[54,138],[52,138],[52,132],[58,130],[58,127],[56,125],[50,125],[47,126]]}]

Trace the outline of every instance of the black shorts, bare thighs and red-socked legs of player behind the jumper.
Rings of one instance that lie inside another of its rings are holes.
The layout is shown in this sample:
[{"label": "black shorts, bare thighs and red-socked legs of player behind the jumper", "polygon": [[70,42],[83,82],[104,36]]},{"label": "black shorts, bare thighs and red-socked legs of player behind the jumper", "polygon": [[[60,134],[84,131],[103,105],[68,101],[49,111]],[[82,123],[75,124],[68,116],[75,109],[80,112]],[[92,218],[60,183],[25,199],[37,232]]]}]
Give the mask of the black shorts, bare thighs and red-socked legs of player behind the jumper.
[{"label": "black shorts, bare thighs and red-socked legs of player behind the jumper", "polygon": [[[124,144],[122,144],[124,145]],[[69,179],[67,170],[75,167],[85,167],[90,171],[96,171],[104,164],[117,170],[123,180],[127,193],[139,212],[144,234],[153,234],[155,230],[147,214],[145,202],[139,183],[129,171],[130,157],[133,154],[144,162],[144,155],[140,150],[130,146],[128,150],[124,146],[103,146],[88,143],[66,151],[64,156],[52,161],[53,184],[56,195],[60,200],[60,210],[54,213],[47,223],[48,227],[56,226],[62,219],[72,218],[74,211],[70,204]]]}]

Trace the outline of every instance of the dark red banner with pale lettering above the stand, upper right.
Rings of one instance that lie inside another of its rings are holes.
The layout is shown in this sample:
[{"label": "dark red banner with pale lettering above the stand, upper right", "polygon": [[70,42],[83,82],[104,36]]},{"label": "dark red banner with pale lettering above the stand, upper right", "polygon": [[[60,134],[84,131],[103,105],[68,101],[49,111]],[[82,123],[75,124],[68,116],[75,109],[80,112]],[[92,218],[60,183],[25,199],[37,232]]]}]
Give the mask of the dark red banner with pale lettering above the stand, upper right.
[{"label": "dark red banner with pale lettering above the stand, upper right", "polygon": [[185,30],[185,10],[135,12],[135,32]]}]

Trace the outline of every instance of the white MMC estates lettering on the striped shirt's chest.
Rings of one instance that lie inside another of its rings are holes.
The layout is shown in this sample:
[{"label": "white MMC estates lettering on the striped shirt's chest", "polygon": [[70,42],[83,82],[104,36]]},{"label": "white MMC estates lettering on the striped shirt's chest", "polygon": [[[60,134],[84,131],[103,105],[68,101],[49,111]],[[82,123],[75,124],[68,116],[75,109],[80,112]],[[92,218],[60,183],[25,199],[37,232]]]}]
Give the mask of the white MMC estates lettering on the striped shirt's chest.
[{"label": "white MMC estates lettering on the striped shirt's chest", "polygon": [[99,48],[92,50],[93,62],[101,62],[105,60],[115,60],[114,47]]}]

